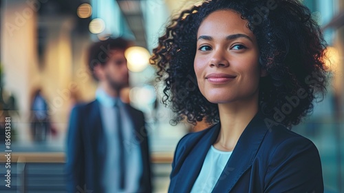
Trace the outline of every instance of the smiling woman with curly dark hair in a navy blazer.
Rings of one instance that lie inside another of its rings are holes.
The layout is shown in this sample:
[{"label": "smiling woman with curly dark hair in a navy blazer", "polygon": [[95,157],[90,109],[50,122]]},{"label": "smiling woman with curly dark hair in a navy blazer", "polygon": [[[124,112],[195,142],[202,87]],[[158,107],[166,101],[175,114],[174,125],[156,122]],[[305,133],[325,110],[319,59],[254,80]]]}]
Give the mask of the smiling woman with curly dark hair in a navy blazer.
[{"label": "smiling woman with curly dark hair in a navy blazer", "polygon": [[323,192],[318,150],[288,128],[325,94],[324,49],[297,0],[206,1],[173,19],[151,58],[163,102],[175,123],[212,126],[178,143],[169,192]]}]

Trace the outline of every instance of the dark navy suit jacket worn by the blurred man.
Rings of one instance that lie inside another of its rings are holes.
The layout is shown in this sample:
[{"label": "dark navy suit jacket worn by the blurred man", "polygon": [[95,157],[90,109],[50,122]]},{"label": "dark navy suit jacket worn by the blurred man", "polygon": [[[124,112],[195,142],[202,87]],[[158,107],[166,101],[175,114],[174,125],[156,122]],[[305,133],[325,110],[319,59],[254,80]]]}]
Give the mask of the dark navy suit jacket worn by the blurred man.
[{"label": "dark navy suit jacket worn by the blurred man", "polygon": [[[105,163],[106,140],[100,118],[100,103],[76,105],[73,108],[67,136],[67,189],[68,192],[104,192],[100,186]],[[142,153],[140,192],[151,192],[151,167],[142,112],[125,105],[135,128]],[[116,172],[116,171],[114,171]]]}]

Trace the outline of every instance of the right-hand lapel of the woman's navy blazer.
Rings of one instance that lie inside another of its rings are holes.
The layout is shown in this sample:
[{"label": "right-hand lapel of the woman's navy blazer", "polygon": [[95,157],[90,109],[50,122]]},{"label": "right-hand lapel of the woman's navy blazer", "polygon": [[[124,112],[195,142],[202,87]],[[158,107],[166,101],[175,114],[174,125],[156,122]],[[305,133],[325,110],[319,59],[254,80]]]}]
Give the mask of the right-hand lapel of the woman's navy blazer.
[{"label": "right-hand lapel of the woman's navy blazer", "polygon": [[264,116],[258,112],[241,134],[213,192],[230,192],[240,176],[252,165],[267,132]]}]

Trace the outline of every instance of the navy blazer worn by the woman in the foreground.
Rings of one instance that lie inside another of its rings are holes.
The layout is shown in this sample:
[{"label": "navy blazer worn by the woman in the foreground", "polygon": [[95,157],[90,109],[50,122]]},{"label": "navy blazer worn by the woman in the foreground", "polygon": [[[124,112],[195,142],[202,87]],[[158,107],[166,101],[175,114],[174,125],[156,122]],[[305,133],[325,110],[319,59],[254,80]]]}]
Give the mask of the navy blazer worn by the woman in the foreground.
[{"label": "navy blazer worn by the woman in the foreground", "polygon": [[[213,192],[323,192],[319,152],[312,141],[260,113],[241,134]],[[186,134],[177,145],[169,192],[190,192],[220,125]],[[206,183],[206,182],[204,182]]]}]

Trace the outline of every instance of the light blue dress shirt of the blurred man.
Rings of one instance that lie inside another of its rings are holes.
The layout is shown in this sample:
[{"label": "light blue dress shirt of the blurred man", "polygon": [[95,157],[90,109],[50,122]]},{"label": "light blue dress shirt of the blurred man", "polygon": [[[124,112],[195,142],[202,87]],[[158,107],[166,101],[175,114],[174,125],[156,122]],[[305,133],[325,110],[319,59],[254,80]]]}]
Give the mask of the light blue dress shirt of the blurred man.
[{"label": "light blue dress shirt of the blurred man", "polygon": [[[105,172],[102,179],[105,193],[120,192],[138,192],[140,177],[142,176],[142,156],[140,143],[136,140],[133,123],[127,112],[127,109],[117,98],[109,96],[104,90],[98,88],[96,99],[100,102],[100,116],[102,119],[105,139],[107,140],[107,154],[105,159]],[[119,150],[118,150],[118,128],[116,124],[115,103],[118,102],[122,117],[122,133],[125,141],[125,163],[126,179],[125,191],[119,190],[119,172],[120,167]]]}]

